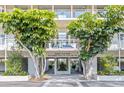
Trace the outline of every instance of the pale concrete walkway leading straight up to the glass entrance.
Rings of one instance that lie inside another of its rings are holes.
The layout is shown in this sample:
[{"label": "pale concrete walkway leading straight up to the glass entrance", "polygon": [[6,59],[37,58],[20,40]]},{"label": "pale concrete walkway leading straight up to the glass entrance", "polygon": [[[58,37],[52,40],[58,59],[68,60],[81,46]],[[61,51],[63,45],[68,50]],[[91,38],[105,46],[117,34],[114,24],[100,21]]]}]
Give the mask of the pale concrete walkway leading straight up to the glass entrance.
[{"label": "pale concrete walkway leading straight up to the glass entrance", "polygon": [[50,75],[43,87],[82,87],[82,75]]}]

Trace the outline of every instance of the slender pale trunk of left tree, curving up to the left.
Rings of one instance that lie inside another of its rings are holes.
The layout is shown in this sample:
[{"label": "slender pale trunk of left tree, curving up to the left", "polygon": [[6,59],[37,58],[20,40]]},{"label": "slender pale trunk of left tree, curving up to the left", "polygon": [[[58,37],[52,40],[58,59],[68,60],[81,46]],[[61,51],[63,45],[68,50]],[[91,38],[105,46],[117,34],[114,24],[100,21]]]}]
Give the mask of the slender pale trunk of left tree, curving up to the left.
[{"label": "slender pale trunk of left tree, curving up to the left", "polygon": [[32,58],[32,61],[33,61],[33,63],[34,63],[34,68],[35,68],[35,71],[36,71],[35,77],[36,77],[36,78],[40,78],[39,71],[38,71],[38,65],[36,64],[35,56],[31,53],[31,51],[30,51],[20,40],[18,40],[18,39],[16,39],[16,40],[17,40],[17,42],[19,42],[19,43],[23,46],[23,48],[25,48],[25,49],[27,50],[27,52],[30,54],[30,57]]}]

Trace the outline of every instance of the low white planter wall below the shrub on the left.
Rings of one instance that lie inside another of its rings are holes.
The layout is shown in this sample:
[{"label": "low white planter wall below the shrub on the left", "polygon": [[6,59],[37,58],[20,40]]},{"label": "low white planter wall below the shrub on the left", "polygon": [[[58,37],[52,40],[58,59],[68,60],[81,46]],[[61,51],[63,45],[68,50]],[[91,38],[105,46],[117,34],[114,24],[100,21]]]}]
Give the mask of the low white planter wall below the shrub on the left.
[{"label": "low white planter wall below the shrub on the left", "polygon": [[28,81],[29,76],[0,76],[0,82],[5,81]]}]

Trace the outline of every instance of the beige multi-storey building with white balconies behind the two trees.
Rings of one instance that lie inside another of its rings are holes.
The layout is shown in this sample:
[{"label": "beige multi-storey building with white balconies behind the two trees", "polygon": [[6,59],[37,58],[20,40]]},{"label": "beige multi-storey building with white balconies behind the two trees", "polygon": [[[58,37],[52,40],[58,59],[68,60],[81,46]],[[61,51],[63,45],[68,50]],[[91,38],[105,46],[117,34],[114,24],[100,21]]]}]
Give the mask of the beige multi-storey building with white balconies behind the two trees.
[{"label": "beige multi-storey building with white balconies behind the two trees", "polygon": [[[67,35],[66,26],[72,20],[85,12],[104,13],[105,5],[0,5],[0,12],[11,12],[13,8],[27,9],[47,9],[57,14],[55,21],[58,24],[58,36],[47,46],[47,66],[48,74],[83,74],[83,65],[80,63],[78,55],[78,40]],[[16,48],[14,37],[5,35],[0,27],[0,72],[6,70],[5,64],[8,55]],[[118,59],[118,68],[124,70],[124,33],[115,35],[108,51]],[[34,75],[35,69],[33,62],[26,51],[22,52],[25,57],[25,65],[30,75]],[[97,58],[92,60],[92,73],[97,75]]]}]

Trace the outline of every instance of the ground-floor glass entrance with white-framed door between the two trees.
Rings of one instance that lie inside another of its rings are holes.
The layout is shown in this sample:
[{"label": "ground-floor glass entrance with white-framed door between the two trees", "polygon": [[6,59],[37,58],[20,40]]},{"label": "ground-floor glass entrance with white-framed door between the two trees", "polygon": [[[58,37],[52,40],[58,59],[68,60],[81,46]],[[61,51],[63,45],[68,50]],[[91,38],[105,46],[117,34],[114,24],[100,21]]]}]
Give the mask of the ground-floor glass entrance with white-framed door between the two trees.
[{"label": "ground-floor glass entrance with white-framed door between the two trees", "polygon": [[82,67],[77,58],[48,58],[46,73],[47,74],[82,74]]}]

